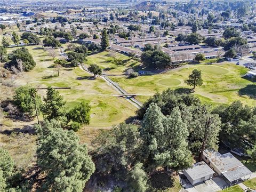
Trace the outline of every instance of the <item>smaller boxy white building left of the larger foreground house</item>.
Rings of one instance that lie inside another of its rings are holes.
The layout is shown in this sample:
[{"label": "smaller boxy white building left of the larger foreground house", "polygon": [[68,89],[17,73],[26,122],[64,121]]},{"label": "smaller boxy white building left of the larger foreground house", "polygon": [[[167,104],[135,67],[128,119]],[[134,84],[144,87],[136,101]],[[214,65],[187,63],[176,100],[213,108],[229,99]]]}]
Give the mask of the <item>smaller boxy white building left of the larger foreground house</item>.
[{"label": "smaller boxy white building left of the larger foreground house", "polygon": [[212,179],[215,172],[203,161],[193,164],[189,169],[183,170],[192,185]]}]

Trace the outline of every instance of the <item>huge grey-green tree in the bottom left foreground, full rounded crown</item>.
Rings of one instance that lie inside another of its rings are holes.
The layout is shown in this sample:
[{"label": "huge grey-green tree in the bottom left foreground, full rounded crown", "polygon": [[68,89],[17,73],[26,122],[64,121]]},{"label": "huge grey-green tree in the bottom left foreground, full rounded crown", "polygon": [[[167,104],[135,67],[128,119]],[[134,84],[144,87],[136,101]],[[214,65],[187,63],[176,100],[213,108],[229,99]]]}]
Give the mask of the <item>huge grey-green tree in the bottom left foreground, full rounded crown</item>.
[{"label": "huge grey-green tree in the bottom left foreground, full rounded crown", "polygon": [[86,145],[79,145],[74,131],[63,130],[53,120],[36,125],[37,163],[46,174],[44,191],[83,191],[95,171]]}]

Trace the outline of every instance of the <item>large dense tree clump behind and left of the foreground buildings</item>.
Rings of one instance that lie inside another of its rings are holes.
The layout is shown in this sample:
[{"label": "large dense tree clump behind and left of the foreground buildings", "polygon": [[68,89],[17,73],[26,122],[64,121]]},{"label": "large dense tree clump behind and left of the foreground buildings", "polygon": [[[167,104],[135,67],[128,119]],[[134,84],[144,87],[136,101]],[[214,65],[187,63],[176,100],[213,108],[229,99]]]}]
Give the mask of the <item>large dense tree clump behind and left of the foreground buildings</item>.
[{"label": "large dense tree clump behind and left of the foreground buildings", "polygon": [[137,117],[139,122],[102,130],[93,141],[96,173],[126,181],[129,191],[154,191],[150,174],[157,167],[185,169],[192,154],[218,148],[220,117],[193,95],[156,94]]}]

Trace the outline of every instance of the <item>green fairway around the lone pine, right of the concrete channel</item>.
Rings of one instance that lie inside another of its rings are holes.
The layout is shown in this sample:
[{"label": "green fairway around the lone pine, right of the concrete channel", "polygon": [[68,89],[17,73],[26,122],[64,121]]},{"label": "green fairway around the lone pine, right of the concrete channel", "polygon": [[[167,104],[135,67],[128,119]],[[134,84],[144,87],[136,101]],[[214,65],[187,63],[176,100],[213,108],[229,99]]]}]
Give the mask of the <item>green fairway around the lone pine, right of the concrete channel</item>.
[{"label": "green fairway around the lone pine, right of the concrete channel", "polygon": [[118,82],[127,92],[138,94],[138,99],[143,102],[156,92],[162,92],[169,87],[191,88],[184,81],[195,68],[202,71],[204,84],[196,87],[194,94],[203,102],[219,104],[241,100],[247,105],[256,105],[256,83],[242,78],[247,69],[227,62],[214,65],[186,65],[164,74],[111,79]]}]

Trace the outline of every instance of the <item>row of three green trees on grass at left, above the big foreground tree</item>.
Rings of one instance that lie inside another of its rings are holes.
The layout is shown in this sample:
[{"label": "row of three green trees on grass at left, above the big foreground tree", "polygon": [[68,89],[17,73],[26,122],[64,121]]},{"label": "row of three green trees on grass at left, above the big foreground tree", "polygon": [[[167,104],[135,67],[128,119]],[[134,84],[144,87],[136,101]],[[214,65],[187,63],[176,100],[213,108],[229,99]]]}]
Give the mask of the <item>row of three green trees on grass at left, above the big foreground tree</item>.
[{"label": "row of three green trees on grass at left, above the big foreground tree", "polygon": [[66,101],[53,87],[47,88],[46,96],[42,101],[35,88],[20,86],[15,90],[13,101],[20,111],[28,116],[36,115],[38,119],[39,114],[42,113],[45,120],[56,119],[62,126],[74,131],[90,123],[91,107],[88,103],[81,102],[78,106],[68,109],[65,107]]}]

